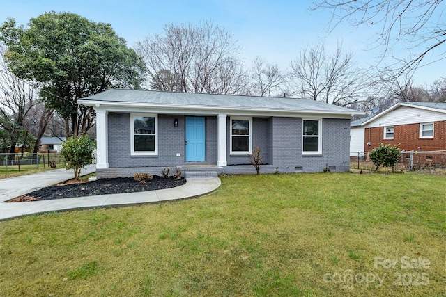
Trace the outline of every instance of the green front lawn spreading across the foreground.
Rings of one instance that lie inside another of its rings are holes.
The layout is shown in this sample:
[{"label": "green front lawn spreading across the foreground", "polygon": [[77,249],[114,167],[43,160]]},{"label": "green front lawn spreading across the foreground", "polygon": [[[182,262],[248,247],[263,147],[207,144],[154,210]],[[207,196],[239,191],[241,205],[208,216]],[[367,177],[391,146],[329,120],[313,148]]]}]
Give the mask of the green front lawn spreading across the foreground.
[{"label": "green front lawn spreading across the foreground", "polygon": [[1,294],[446,296],[445,189],[418,173],[229,176],[193,200],[8,220]]}]

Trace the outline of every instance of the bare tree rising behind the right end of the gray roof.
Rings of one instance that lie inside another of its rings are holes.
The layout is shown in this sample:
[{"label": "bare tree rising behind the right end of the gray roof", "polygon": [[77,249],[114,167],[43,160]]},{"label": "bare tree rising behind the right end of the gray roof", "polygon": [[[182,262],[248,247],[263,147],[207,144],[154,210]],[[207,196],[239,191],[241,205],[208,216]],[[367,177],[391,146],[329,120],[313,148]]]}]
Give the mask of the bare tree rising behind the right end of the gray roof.
[{"label": "bare tree rising behind the right end of the gray roof", "polygon": [[356,67],[353,54],[337,51],[328,55],[323,44],[307,47],[291,61],[296,93],[302,97],[346,106],[364,97],[364,74]]}]

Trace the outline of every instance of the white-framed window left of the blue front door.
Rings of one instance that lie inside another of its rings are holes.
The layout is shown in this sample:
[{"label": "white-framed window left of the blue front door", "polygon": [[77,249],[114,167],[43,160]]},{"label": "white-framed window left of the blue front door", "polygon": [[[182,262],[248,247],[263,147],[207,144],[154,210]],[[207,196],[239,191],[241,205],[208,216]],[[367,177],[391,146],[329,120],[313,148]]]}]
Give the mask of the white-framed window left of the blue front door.
[{"label": "white-framed window left of the blue front door", "polygon": [[131,154],[157,154],[157,116],[132,114],[130,119]]}]

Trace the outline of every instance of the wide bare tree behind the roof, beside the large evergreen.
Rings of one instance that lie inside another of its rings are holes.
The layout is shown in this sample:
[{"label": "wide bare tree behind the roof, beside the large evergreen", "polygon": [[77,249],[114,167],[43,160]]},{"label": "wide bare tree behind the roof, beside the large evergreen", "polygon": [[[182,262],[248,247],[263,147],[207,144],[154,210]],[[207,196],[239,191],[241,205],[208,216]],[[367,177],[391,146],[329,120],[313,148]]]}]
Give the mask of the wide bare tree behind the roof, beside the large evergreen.
[{"label": "wide bare tree behind the roof, beside the large evergreen", "polygon": [[198,26],[167,24],[163,33],[138,41],[134,49],[146,65],[149,87],[155,90],[226,94],[245,91],[240,81],[245,81],[238,58],[240,46],[232,33],[213,22]]}]

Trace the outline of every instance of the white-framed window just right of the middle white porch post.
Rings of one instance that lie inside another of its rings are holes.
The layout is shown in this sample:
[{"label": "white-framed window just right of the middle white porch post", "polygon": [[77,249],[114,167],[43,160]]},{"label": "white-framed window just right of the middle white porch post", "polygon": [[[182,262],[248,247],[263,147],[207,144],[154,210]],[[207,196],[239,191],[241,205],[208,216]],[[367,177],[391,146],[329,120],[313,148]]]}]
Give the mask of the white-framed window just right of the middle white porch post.
[{"label": "white-framed window just right of the middle white porch post", "polygon": [[252,152],[252,118],[231,118],[231,154]]}]

